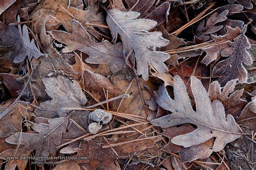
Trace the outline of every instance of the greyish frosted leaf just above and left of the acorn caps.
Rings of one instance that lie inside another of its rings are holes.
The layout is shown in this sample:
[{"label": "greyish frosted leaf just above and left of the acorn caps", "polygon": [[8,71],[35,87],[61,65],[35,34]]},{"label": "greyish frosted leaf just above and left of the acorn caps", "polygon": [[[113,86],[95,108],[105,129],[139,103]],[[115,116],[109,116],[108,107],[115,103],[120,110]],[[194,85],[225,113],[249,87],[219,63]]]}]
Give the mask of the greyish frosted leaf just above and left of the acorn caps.
[{"label": "greyish frosted leaf just above and left of the acorn caps", "polygon": [[63,108],[78,108],[86,104],[87,99],[77,81],[70,81],[63,76],[43,78],[45,91],[52,100],[45,101],[35,110],[35,115],[52,118]]}]

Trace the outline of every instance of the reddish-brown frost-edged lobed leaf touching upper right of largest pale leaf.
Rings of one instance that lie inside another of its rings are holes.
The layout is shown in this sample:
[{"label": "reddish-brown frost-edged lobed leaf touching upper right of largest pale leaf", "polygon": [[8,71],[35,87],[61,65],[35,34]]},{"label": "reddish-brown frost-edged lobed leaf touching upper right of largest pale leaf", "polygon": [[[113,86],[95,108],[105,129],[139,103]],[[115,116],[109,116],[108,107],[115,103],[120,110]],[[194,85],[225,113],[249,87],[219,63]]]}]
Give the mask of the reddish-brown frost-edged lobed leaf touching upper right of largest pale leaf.
[{"label": "reddish-brown frost-edged lobed leaf touching upper right of largest pale leaf", "polygon": [[227,82],[226,86],[221,91],[218,81],[214,81],[211,83],[208,90],[211,101],[219,100],[224,105],[225,114],[230,114],[234,117],[240,115],[241,109],[246,103],[246,101],[241,98],[244,89],[234,91],[235,85],[237,84],[236,82],[237,80]]}]

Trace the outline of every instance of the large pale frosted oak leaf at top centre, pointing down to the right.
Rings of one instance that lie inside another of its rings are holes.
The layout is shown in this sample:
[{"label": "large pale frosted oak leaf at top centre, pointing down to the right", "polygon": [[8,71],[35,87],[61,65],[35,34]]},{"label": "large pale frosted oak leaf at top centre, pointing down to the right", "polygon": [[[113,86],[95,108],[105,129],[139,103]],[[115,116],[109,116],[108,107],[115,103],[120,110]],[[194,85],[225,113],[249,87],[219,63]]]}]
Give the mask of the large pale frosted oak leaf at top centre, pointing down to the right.
[{"label": "large pale frosted oak leaf at top centre, pointing down to the right", "polygon": [[134,51],[138,75],[147,80],[149,63],[160,73],[167,71],[164,61],[169,59],[169,54],[156,51],[155,48],[165,46],[169,41],[161,37],[160,32],[148,32],[157,23],[153,20],[136,19],[139,15],[138,12],[110,9],[107,11],[106,20],[112,37],[116,39],[118,33],[120,34],[124,51],[127,54]]}]

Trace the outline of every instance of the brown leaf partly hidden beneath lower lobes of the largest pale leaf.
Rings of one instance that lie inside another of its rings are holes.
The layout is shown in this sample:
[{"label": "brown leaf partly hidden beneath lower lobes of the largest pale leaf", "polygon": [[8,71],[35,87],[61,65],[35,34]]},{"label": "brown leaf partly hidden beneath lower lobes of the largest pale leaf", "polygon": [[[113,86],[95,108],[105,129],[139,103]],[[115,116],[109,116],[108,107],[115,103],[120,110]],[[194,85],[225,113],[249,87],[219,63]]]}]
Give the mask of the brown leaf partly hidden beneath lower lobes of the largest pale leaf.
[{"label": "brown leaf partly hidden beneath lower lobes of the largest pale leaf", "polygon": [[164,147],[165,152],[179,152],[181,162],[192,162],[196,159],[205,159],[210,156],[212,153],[212,145],[213,145],[213,139],[207,140],[203,144],[194,145],[191,147],[183,147],[179,145],[175,145],[171,142],[172,138],[178,135],[190,133],[194,130],[191,125],[184,124],[179,127],[172,126],[169,128],[163,129],[164,136],[169,138],[169,143],[167,143]]}]

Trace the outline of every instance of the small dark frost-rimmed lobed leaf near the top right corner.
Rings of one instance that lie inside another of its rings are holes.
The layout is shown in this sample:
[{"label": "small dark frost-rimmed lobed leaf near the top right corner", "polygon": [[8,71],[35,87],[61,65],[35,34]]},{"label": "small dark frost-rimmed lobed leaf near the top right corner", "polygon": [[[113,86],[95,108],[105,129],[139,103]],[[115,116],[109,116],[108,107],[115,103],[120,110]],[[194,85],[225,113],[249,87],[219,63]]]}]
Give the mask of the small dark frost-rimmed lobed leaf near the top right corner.
[{"label": "small dark frost-rimmed lobed leaf near the top right corner", "polygon": [[223,22],[227,19],[228,10],[224,10],[221,13],[214,12],[211,17],[207,20],[206,25],[203,20],[197,27],[197,37],[201,40],[207,41],[210,36],[209,34],[219,31],[223,25],[215,26],[215,24]]}]

